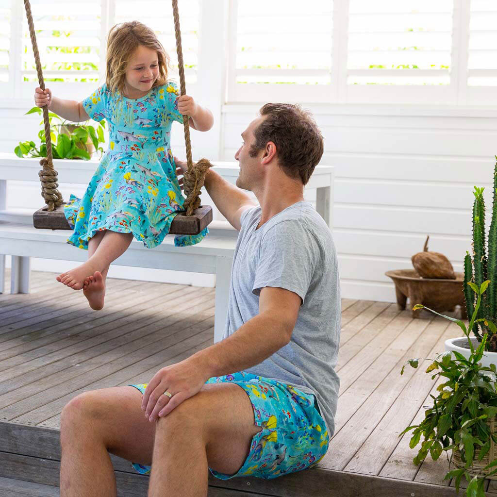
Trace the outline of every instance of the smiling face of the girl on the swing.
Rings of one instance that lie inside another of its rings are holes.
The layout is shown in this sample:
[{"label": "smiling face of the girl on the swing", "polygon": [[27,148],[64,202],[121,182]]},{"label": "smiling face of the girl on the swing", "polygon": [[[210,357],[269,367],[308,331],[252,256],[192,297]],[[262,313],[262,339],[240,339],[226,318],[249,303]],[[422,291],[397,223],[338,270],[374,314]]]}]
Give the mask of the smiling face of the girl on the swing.
[{"label": "smiling face of the girl on the swing", "polygon": [[126,96],[145,96],[159,76],[157,52],[140,45],[131,55],[126,68]]}]

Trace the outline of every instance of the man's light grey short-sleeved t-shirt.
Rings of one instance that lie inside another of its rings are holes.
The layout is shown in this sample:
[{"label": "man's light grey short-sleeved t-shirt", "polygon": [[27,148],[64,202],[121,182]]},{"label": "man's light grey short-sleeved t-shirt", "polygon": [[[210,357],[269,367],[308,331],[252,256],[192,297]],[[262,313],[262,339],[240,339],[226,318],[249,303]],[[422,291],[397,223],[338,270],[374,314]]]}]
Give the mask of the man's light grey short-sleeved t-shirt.
[{"label": "man's light grey short-sleeved t-shirt", "polygon": [[258,230],[261,209],[241,217],[223,338],[259,313],[260,290],[290,290],[302,299],[290,342],[246,371],[313,393],[330,437],[340,380],[335,373],[340,341],[340,289],[336,251],[323,218],[297,202]]}]

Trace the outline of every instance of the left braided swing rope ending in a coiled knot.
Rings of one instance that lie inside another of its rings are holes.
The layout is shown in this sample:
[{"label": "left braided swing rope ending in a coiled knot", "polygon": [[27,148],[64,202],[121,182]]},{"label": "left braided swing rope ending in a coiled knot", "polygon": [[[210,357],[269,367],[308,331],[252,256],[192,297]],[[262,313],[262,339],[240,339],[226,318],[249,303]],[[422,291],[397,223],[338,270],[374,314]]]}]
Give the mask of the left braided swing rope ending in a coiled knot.
[{"label": "left braided swing rope ending in a coiled knot", "polygon": [[[36,62],[36,72],[38,73],[38,82],[42,90],[45,89],[45,82],[43,81],[43,72],[41,69],[40,54],[38,52],[38,43],[36,42],[36,34],[34,32],[33,16],[31,15],[31,4],[29,0],[24,0],[24,7],[26,9],[26,17],[29,26],[29,36],[31,37],[31,44],[33,46],[34,60]],[[52,140],[50,138],[50,122],[48,120],[48,106],[43,107],[43,123],[45,125],[45,143],[47,145],[47,158],[40,161],[42,170],[38,172],[41,181],[41,196],[45,199],[48,205],[48,210],[53,211],[56,207],[64,202],[62,194],[57,187],[57,171],[54,169],[52,160]]]}]

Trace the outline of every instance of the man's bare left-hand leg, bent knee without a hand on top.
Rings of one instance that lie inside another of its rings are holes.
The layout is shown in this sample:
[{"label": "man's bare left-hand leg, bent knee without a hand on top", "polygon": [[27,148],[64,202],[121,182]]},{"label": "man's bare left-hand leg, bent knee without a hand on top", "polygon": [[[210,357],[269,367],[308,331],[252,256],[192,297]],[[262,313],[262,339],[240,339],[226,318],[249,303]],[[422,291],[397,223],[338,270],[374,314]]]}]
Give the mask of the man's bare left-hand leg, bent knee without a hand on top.
[{"label": "man's bare left-hand leg, bent knee without a hand on top", "polygon": [[133,387],[85,392],[61,417],[61,497],[116,496],[108,450],[150,464],[155,423],[140,409],[142,394]]}]

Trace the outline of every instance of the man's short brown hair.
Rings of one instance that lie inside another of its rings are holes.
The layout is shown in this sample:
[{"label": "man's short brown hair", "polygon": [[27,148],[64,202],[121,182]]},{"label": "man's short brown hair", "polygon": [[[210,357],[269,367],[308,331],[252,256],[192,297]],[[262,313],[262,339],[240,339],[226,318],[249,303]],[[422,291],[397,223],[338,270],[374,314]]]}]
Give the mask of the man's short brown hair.
[{"label": "man's short brown hair", "polygon": [[307,184],[323,155],[323,135],[314,117],[290,103],[266,103],[259,112],[267,117],[254,131],[250,156],[255,157],[267,142],[273,142],[280,167],[288,176],[300,177]]}]

